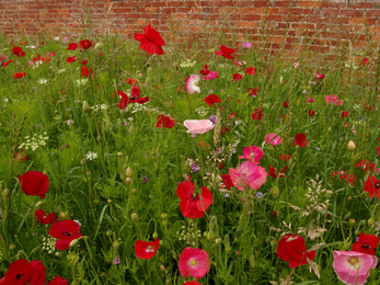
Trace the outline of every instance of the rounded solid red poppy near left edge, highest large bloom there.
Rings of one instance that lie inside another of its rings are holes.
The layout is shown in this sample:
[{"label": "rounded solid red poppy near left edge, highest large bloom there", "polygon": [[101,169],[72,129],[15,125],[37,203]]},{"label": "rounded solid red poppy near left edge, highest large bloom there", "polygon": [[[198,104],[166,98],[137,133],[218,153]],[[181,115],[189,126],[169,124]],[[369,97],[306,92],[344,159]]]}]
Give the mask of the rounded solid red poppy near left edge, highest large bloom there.
[{"label": "rounded solid red poppy near left edge, highest large bloom there", "polygon": [[21,183],[21,190],[26,195],[38,195],[41,198],[45,198],[45,193],[49,189],[49,179],[38,171],[27,171],[22,176],[19,176]]}]

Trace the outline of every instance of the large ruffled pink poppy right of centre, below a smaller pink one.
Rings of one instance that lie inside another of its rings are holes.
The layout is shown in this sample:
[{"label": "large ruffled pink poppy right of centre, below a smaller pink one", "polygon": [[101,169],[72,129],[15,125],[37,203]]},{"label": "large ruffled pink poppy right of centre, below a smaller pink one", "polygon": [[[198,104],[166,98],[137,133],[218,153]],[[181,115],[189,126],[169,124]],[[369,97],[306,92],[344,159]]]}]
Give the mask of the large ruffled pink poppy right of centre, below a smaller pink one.
[{"label": "large ruffled pink poppy right of centre, below a smaller pink one", "polygon": [[267,172],[265,168],[258,167],[252,161],[244,161],[237,169],[230,168],[229,171],[233,185],[241,190],[260,189],[266,181]]}]

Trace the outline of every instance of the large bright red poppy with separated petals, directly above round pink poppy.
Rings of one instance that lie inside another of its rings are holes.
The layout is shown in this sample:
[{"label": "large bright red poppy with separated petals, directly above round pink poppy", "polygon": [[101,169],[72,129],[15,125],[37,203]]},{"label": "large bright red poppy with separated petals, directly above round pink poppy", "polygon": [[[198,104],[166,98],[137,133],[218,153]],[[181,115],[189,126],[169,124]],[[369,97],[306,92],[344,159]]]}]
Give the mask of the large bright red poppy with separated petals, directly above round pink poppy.
[{"label": "large bright red poppy with separated petals, directly above round pink poppy", "polygon": [[195,185],[191,181],[181,182],[176,189],[182,215],[193,219],[201,218],[205,215],[204,210],[208,210],[212,204],[212,194],[207,187],[201,186],[197,193],[194,190]]}]

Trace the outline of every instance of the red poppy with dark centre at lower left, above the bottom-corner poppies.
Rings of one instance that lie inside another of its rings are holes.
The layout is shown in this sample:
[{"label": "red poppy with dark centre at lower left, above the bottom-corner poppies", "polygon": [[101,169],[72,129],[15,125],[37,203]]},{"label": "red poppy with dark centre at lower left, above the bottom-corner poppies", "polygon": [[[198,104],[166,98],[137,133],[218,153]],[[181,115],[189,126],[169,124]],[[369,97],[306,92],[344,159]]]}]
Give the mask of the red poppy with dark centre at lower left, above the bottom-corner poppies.
[{"label": "red poppy with dark centre at lower left, above the bottom-corner poppies", "polygon": [[70,242],[74,239],[82,237],[80,231],[80,226],[71,220],[59,220],[53,224],[49,230],[49,236],[58,239],[56,241],[57,250],[66,250],[70,247]]}]

